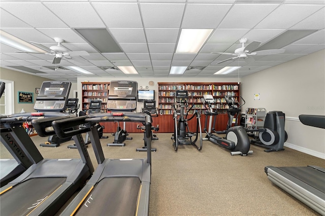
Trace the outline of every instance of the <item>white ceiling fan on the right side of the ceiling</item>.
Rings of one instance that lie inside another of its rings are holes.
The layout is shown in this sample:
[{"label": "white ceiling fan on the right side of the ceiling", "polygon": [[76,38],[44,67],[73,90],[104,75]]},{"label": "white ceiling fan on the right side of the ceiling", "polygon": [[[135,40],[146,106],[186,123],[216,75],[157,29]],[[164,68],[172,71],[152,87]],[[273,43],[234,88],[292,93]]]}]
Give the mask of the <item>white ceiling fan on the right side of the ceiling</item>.
[{"label": "white ceiling fan on the right side of the ceiling", "polygon": [[238,58],[244,59],[244,61],[246,61],[247,63],[250,63],[250,62],[255,60],[251,56],[254,56],[254,55],[273,55],[273,54],[283,53],[285,51],[285,49],[274,49],[274,50],[261,50],[261,51],[252,52],[255,49],[257,49],[257,47],[261,44],[261,42],[253,41],[252,43],[248,44],[246,47],[244,46],[244,44],[247,42],[247,38],[242,38],[242,39],[239,40],[239,42],[242,44],[242,47],[236,49],[235,53],[212,52],[212,53],[215,53],[215,54],[234,55],[235,56],[235,57],[228,58],[228,59],[225,59],[223,61],[220,61],[217,64],[220,64],[222,62],[229,61],[229,60],[236,60]]}]

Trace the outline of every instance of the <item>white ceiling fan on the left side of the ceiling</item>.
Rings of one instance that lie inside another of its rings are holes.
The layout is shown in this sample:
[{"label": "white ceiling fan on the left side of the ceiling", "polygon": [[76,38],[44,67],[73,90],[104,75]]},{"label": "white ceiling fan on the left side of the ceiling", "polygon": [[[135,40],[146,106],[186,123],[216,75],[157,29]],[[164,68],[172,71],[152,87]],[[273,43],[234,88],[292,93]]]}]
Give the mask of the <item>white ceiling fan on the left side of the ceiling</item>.
[{"label": "white ceiling fan on the left side of the ceiling", "polygon": [[55,46],[51,46],[50,48],[45,47],[44,45],[37,42],[30,42],[32,45],[47,51],[46,53],[38,53],[38,52],[18,52],[17,53],[34,53],[34,54],[46,54],[46,55],[54,55],[54,59],[52,64],[58,64],[61,62],[61,59],[67,58],[71,59],[71,56],[86,56],[89,55],[86,51],[69,51],[67,48],[61,46],[61,43],[64,42],[61,38],[54,38],[54,41],[57,43]]}]

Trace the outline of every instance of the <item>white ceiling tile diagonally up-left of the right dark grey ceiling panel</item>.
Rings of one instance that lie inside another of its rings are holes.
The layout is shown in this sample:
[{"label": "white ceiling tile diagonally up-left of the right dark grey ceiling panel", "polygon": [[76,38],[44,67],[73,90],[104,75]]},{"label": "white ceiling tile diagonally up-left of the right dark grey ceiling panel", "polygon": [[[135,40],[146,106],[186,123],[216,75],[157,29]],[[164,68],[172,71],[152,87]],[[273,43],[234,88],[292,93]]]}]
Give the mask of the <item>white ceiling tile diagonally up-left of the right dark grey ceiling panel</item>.
[{"label": "white ceiling tile diagonally up-left of the right dark grey ceiling panel", "polygon": [[255,28],[289,28],[304,20],[322,6],[318,5],[281,5]]}]

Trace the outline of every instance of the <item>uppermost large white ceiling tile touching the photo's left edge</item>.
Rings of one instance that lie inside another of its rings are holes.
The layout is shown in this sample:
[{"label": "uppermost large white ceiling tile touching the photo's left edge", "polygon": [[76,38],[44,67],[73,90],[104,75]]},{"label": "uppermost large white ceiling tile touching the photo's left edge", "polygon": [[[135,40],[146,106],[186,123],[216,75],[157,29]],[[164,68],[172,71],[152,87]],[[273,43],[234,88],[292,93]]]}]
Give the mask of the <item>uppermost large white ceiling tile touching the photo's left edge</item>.
[{"label": "uppermost large white ceiling tile touching the photo's left edge", "polygon": [[[60,8],[59,6],[57,6]],[[1,8],[33,27],[68,27],[42,3],[1,3]],[[44,19],[46,17],[46,19]],[[61,17],[60,17],[61,18]]]}]

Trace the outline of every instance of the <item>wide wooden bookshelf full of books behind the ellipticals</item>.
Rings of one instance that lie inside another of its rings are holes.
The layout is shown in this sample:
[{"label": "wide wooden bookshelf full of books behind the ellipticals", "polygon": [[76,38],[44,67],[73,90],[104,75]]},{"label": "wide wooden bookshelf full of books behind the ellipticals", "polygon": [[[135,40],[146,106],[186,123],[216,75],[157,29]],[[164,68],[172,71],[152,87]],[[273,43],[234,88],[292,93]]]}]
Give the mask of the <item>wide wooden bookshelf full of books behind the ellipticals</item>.
[{"label": "wide wooden bookshelf full of books behind the ellipticals", "polygon": [[[188,105],[194,102],[190,114],[195,111],[201,112],[205,109],[203,95],[211,94],[217,100],[219,114],[226,114],[228,105],[225,95],[233,95],[239,101],[240,92],[238,83],[158,83],[158,110],[160,115],[172,115],[174,111],[174,100],[176,90],[188,90]],[[190,95],[193,95],[193,101]]]}]

